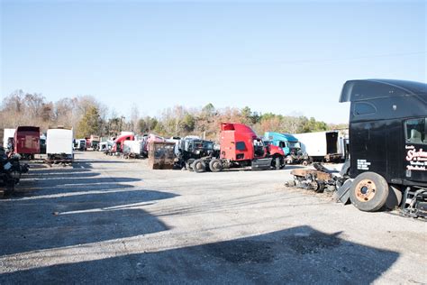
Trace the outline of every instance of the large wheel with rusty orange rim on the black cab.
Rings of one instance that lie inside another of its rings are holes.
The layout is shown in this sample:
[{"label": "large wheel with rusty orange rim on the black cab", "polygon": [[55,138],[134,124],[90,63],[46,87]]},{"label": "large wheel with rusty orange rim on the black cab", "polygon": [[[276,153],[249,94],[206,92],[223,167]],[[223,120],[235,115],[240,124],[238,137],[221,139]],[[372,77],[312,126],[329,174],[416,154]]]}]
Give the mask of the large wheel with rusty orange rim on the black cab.
[{"label": "large wheel with rusty orange rim on the black cab", "polygon": [[354,179],[350,187],[350,201],[365,212],[375,212],[386,205],[388,184],[375,172],[364,172]]}]

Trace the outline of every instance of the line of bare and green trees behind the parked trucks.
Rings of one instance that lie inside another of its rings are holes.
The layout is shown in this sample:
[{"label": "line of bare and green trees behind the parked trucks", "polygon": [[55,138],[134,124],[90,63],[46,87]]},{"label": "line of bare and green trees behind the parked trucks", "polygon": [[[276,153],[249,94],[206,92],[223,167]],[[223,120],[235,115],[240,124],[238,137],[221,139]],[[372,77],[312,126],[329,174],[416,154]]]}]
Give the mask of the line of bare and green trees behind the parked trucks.
[{"label": "line of bare and green trees behind the parked trucks", "polygon": [[209,103],[201,108],[174,106],[159,116],[141,116],[136,106],[131,115],[109,114],[107,106],[91,96],[62,98],[49,102],[41,94],[15,91],[2,101],[0,128],[19,125],[40,126],[44,132],[50,127],[72,127],[77,138],[96,134],[116,136],[122,131],[156,133],[164,137],[195,134],[206,139],[218,139],[223,122],[249,124],[262,135],[266,131],[279,133],[310,133],[341,129],[347,124],[326,124],[304,115],[260,114],[249,106],[243,108],[215,108]]}]

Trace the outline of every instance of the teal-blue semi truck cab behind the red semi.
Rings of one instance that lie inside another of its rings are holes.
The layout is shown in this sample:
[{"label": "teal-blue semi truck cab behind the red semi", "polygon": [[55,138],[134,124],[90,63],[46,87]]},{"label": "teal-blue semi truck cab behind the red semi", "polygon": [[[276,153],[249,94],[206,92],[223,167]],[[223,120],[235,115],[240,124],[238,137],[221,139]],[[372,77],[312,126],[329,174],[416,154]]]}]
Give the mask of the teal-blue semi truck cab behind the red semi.
[{"label": "teal-blue semi truck cab behind the red semi", "polygon": [[307,153],[301,150],[301,143],[292,134],[289,133],[276,133],[266,132],[264,138],[283,149],[286,156],[286,163],[302,163],[307,165],[310,163],[310,158]]}]

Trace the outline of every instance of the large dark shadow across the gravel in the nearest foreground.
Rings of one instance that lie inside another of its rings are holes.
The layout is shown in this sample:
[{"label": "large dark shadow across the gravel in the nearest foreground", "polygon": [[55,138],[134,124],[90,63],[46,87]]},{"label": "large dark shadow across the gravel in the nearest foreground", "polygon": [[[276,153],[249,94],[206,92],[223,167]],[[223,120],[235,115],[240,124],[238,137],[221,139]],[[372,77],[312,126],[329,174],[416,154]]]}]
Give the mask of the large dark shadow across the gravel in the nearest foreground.
[{"label": "large dark shadow across the gravel in the nearest foreground", "polygon": [[[140,249],[141,250],[141,249]],[[0,283],[363,283],[399,254],[299,226],[213,244],[0,275]]]}]

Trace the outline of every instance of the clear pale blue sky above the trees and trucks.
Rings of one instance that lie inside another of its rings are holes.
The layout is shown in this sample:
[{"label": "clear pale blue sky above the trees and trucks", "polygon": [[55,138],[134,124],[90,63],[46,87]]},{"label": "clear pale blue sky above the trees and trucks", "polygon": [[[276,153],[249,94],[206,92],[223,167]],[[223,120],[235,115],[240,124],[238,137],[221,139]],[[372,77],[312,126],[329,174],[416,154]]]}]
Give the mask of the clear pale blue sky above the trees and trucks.
[{"label": "clear pale blue sky above the trees and trucks", "polygon": [[2,1],[1,96],[127,115],[250,106],[345,123],[342,84],[426,81],[426,2]]}]

